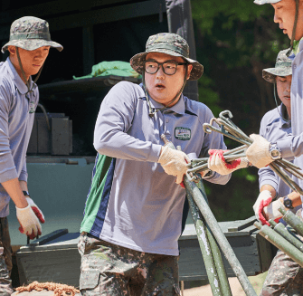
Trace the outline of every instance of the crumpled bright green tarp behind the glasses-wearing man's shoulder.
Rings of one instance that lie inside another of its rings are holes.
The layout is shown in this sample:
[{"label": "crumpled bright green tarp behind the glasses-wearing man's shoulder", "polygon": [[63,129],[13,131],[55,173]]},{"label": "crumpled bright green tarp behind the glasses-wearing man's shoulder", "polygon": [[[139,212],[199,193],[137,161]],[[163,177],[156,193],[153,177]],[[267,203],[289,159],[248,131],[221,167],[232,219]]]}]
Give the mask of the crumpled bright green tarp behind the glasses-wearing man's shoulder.
[{"label": "crumpled bright green tarp behind the glasses-wearing man's shoulder", "polygon": [[89,75],[81,77],[72,76],[72,78],[78,80],[109,75],[141,78],[141,75],[139,75],[133,68],[131,68],[129,62],[121,61],[99,62],[97,65],[92,66],[92,71]]}]

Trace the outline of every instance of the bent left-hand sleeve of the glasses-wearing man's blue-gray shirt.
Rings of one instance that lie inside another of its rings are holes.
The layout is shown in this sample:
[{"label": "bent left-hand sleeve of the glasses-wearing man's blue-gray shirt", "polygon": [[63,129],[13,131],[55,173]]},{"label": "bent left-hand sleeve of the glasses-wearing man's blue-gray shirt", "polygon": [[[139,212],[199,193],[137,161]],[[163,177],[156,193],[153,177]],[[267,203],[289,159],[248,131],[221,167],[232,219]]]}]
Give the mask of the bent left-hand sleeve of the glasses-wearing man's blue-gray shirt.
[{"label": "bent left-hand sleeve of the glasses-wearing man's blue-gray shirt", "polygon": [[94,148],[111,158],[157,162],[161,145],[128,135],[137,107],[137,93],[119,82],[102,101],[94,131]]}]

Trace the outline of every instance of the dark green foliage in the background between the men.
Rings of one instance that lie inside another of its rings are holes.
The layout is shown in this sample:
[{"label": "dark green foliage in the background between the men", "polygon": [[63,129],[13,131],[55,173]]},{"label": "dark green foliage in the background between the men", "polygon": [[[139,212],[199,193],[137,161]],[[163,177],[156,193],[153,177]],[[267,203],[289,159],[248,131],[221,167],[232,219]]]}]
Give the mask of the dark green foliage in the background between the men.
[{"label": "dark green foliage in the background between the men", "polygon": [[[217,117],[231,110],[233,122],[246,134],[259,133],[260,119],[273,108],[273,87],[262,69],[274,66],[289,38],[273,22],[271,5],[242,0],[192,0],[197,60],[204,65],[199,100]],[[240,143],[225,138],[228,148]],[[259,194],[258,170],[241,169],[225,186],[204,182],[218,221],[253,215]]]}]

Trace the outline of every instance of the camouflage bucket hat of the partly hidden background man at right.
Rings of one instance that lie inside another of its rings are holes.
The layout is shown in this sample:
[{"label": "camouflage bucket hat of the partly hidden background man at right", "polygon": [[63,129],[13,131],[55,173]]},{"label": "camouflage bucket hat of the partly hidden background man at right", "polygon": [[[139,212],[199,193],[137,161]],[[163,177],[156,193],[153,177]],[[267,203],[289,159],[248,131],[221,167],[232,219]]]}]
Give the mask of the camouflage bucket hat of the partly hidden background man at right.
[{"label": "camouflage bucket hat of the partly hidden background man at right", "polygon": [[271,83],[276,81],[276,76],[289,76],[292,74],[291,60],[286,55],[289,49],[280,51],[277,56],[275,68],[263,69],[262,77]]}]

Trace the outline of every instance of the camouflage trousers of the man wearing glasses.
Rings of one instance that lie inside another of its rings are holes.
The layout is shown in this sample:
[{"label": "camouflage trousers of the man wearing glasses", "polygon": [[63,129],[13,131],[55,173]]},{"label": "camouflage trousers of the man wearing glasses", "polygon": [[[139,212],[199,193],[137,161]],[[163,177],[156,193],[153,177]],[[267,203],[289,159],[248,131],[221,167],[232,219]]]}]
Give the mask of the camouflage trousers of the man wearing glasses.
[{"label": "camouflage trousers of the man wearing glasses", "polygon": [[181,296],[178,257],[143,253],[82,233],[81,295]]}]

